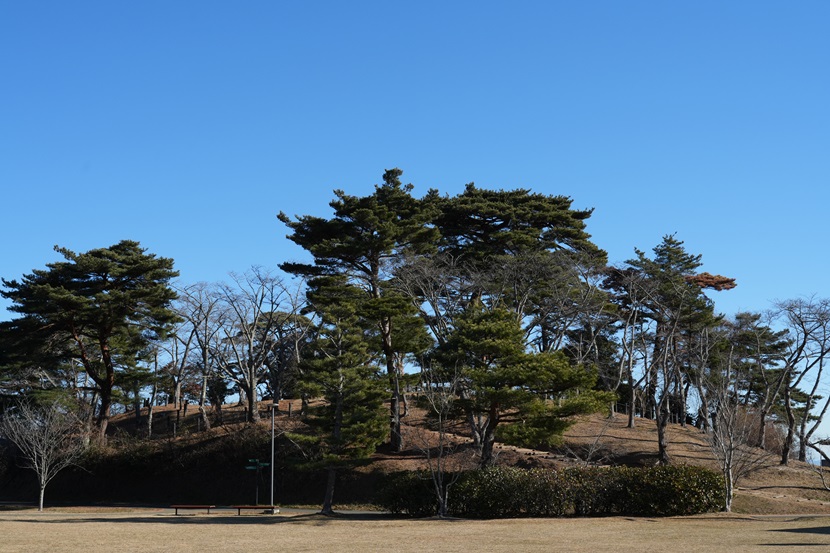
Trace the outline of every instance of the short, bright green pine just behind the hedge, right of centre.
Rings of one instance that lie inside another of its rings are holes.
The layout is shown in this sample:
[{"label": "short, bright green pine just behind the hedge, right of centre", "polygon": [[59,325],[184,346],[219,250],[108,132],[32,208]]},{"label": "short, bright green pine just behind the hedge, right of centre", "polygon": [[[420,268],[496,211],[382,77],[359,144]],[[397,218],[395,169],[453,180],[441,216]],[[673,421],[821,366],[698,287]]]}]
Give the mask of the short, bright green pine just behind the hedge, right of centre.
[{"label": "short, bright green pine just behind the hedge, right of centre", "polygon": [[473,427],[482,466],[492,464],[497,437],[549,448],[569,426],[566,417],[595,412],[613,399],[593,390],[595,375],[561,352],[527,353],[516,316],[504,309],[465,313],[435,361],[460,375],[457,404]]}]

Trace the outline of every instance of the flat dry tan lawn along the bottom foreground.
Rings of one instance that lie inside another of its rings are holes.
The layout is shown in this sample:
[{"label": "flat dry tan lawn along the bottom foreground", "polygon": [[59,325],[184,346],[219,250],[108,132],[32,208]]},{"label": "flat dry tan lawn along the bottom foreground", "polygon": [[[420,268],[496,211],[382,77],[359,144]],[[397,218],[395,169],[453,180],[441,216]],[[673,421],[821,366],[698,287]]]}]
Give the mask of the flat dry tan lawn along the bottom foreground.
[{"label": "flat dry tan lawn along the bottom foreground", "polygon": [[389,520],[152,511],[0,512],[0,552],[825,551],[827,517]]}]

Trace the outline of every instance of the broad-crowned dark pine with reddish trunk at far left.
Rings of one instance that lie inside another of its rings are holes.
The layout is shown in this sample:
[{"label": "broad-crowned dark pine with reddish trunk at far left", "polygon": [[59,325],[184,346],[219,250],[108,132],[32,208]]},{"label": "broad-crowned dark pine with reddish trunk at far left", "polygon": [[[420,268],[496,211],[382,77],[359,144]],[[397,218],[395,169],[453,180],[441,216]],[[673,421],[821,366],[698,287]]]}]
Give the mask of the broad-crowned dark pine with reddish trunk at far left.
[{"label": "broad-crowned dark pine with reddish trunk at far left", "polygon": [[26,352],[32,364],[77,360],[95,383],[104,439],[120,372],[177,320],[170,281],[178,273],[172,259],[130,240],[86,253],[55,249],[65,261],[2,281],[0,295],[20,317],[0,325],[0,340]]}]

